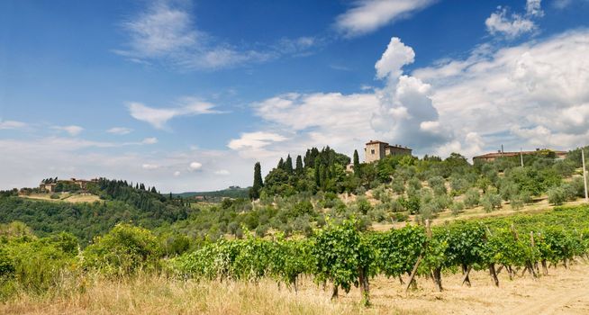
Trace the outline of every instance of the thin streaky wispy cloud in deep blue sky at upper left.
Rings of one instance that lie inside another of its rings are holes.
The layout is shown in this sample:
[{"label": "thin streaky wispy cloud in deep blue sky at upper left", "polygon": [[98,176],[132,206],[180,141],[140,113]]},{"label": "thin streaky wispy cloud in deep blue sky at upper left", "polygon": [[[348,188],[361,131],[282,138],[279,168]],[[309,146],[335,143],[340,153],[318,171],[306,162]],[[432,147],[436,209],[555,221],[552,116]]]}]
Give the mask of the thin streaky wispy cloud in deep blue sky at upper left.
[{"label": "thin streaky wispy cloud in deep blue sky at upper left", "polygon": [[151,4],[122,23],[129,42],[124,49],[113,51],[133,62],[163,62],[182,70],[219,69],[302,54],[317,41],[313,37],[300,37],[278,40],[262,49],[238,47],[197,29],[186,4],[169,1]]}]

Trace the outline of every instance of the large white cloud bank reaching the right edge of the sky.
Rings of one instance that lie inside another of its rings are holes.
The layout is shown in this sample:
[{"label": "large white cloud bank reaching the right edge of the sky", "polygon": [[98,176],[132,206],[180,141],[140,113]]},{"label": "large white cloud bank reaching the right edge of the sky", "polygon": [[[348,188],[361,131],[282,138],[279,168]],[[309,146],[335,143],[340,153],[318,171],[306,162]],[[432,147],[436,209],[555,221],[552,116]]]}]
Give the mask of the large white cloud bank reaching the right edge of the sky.
[{"label": "large white cloud bank reaching the right edge of the sky", "polygon": [[586,51],[589,31],[569,31],[448,59],[413,76],[432,86],[439,121],[461,135],[476,132],[495,148],[574,148],[586,144],[589,130]]}]

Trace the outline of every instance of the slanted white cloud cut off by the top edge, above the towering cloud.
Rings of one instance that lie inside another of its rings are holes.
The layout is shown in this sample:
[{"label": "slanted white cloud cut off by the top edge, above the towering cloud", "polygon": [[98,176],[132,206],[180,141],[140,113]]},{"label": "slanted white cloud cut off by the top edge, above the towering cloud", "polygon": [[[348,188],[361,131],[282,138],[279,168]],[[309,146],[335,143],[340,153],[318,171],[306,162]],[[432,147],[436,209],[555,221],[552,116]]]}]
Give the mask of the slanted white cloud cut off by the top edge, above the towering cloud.
[{"label": "slanted white cloud cut off by the top edge, above the towering cloud", "polygon": [[357,0],[336,18],[336,28],[348,37],[363,35],[420,11],[436,0]]}]

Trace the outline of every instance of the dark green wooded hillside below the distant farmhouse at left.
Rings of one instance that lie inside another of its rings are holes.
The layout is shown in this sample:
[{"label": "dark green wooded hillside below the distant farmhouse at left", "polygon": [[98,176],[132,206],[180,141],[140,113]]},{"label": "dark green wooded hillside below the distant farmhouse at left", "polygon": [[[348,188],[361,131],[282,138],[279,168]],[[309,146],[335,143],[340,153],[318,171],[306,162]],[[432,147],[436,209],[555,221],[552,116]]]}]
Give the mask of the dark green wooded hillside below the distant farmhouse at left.
[{"label": "dark green wooded hillside below the distant farmhouse at left", "polygon": [[[134,222],[155,229],[193,212],[180,197],[164,196],[143,184],[127,184],[101,178],[87,190],[100,196],[99,202],[47,202],[19,198],[14,193],[0,196],[0,223],[22,221],[38,236],[67,231],[85,243],[104,234],[119,222]],[[13,191],[9,191],[13,192]]]}]

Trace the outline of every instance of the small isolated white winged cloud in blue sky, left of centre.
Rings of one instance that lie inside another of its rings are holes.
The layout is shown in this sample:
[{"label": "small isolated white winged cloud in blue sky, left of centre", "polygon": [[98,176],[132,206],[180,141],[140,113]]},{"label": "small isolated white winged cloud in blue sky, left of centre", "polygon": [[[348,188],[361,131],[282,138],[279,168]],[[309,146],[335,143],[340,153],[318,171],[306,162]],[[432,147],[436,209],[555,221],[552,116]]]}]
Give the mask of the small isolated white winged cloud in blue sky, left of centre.
[{"label": "small isolated white winged cloud in blue sky, left of centre", "polygon": [[178,116],[220,113],[213,110],[213,107],[212,103],[201,102],[191,97],[182,98],[177,107],[168,108],[154,108],[137,102],[127,104],[127,108],[134,119],[148,122],[157,129],[165,129],[166,123]]}]

